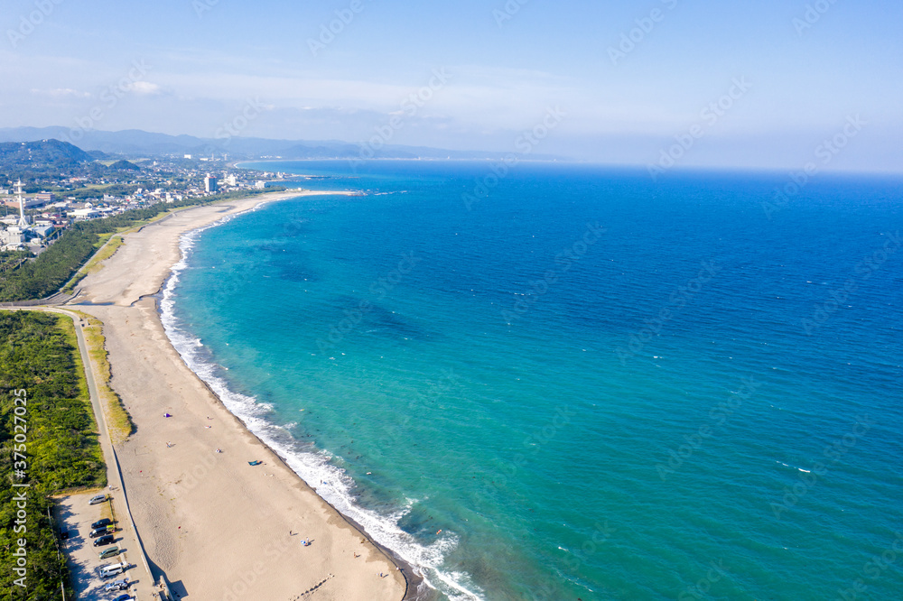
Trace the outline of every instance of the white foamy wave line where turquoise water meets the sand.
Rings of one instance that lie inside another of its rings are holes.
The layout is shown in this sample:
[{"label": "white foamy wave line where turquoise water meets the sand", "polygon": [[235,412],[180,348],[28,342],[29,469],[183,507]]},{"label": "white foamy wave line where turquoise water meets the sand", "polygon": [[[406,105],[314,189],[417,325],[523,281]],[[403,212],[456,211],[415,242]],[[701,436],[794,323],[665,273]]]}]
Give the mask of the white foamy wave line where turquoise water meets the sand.
[{"label": "white foamy wave line where turquoise water meets the sand", "polygon": [[[257,210],[263,204],[245,212]],[[209,226],[200,227],[182,236],[179,245],[182,259],[172,266],[172,275],[163,287],[163,299],[160,302],[163,328],[172,341],[172,346],[179,352],[191,371],[198,374],[200,379],[209,385],[226,408],[235,414],[248,430],[254,432],[259,439],[283,458],[298,476],[301,476],[308,485],[317,491],[318,495],[340,513],[357,522],[370,538],[392,550],[399,558],[408,563],[419,576],[424,578],[424,583],[428,587],[442,591],[452,601],[483,599],[482,591],[472,582],[469,574],[442,569],[445,557],[459,543],[459,538],[454,532],[442,532],[442,536],[438,540],[424,545],[399,526],[401,520],[417,503],[415,500],[408,499],[404,507],[399,507],[389,514],[377,513],[357,504],[355,495],[353,495],[354,481],[345,473],[345,470],[330,463],[332,455],[324,450],[311,451],[309,447],[305,449],[302,443],[294,439],[286,430],[288,426],[277,426],[267,420],[271,410],[270,405],[258,402],[252,396],[230,390],[226,380],[217,374],[219,365],[212,363],[209,360],[209,354],[201,350],[203,343],[200,338],[191,336],[182,328],[182,324],[174,313],[175,290],[181,273],[188,267],[191,250],[202,232],[211,227],[228,223],[238,215],[241,213],[224,217]],[[425,589],[418,591],[417,596],[421,595],[426,595]]]}]

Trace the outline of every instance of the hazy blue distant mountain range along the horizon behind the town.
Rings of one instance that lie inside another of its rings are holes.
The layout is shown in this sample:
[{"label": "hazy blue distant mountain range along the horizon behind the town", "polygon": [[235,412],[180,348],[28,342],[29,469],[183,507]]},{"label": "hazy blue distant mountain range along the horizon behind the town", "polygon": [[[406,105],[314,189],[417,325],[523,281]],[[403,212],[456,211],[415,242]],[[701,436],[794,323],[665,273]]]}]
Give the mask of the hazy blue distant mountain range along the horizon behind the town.
[{"label": "hazy blue distant mountain range along the horizon behind the town", "polygon": [[[62,140],[85,151],[120,154],[128,157],[183,155],[230,159],[280,157],[283,159],[354,159],[361,156],[358,145],[330,141],[270,140],[266,138],[233,137],[228,140],[196,138],[191,135],[153,134],[137,129],[120,132],[91,130],[83,132],[68,127],[6,127],[0,128],[0,143]],[[425,146],[386,145],[366,158],[376,159],[500,159],[509,153],[479,151],[450,151]],[[552,155],[531,154],[535,160],[563,160]]]}]

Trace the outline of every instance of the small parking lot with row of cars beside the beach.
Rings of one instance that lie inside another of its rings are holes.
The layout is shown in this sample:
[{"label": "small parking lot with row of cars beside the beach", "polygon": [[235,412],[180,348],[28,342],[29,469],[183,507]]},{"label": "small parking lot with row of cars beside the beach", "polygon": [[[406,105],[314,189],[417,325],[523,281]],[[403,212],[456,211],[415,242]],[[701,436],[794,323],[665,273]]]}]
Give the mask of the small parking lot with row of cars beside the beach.
[{"label": "small parking lot with row of cars beside the beach", "polygon": [[[141,559],[135,532],[132,530],[125,516],[125,508],[120,509],[121,500],[117,500],[116,493],[121,491],[104,491],[107,497],[111,497],[104,503],[89,504],[91,497],[101,491],[69,495],[57,499],[54,513],[60,532],[68,533],[68,538],[61,541],[61,548],[65,551],[72,571],[74,586],[79,598],[82,599],[115,599],[117,596],[128,594],[132,599],[151,600],[158,598],[154,583]],[[91,524],[102,518],[109,518],[115,522],[115,531],[112,532],[114,542],[104,546],[94,546],[97,538],[90,538]],[[119,549],[118,554],[107,559],[100,559],[99,554],[104,550]],[[128,568],[124,573],[111,578],[101,578],[100,570],[103,566],[125,562]],[[116,580],[127,579],[129,586],[126,590],[106,592],[104,587]]]}]

